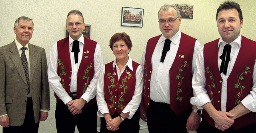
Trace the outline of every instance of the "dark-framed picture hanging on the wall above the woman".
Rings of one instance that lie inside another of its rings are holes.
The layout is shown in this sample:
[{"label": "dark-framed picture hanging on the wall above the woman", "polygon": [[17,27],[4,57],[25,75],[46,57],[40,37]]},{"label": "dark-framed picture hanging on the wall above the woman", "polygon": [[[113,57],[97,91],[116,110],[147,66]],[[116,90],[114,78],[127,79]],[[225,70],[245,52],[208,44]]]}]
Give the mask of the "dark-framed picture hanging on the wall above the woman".
[{"label": "dark-framed picture hanging on the wall above the woman", "polygon": [[144,9],[122,7],[121,26],[143,26]]}]

